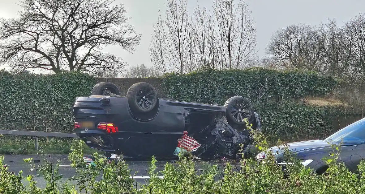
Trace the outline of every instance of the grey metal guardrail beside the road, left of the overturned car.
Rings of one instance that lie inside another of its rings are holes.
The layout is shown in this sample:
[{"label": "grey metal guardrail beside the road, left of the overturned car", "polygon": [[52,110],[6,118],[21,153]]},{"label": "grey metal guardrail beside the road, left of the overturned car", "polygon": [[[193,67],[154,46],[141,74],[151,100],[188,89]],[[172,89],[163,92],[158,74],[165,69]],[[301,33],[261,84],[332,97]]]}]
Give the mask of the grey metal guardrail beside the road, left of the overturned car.
[{"label": "grey metal guardrail beside the road, left of the overturned car", "polygon": [[38,136],[39,137],[66,137],[78,138],[75,133],[59,133],[59,132],[34,132],[34,131],[20,131],[20,130],[0,130],[3,135],[17,135],[17,136],[35,136],[35,150],[38,150]]}]

